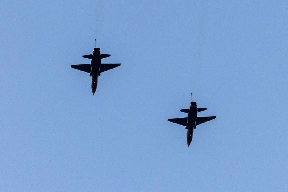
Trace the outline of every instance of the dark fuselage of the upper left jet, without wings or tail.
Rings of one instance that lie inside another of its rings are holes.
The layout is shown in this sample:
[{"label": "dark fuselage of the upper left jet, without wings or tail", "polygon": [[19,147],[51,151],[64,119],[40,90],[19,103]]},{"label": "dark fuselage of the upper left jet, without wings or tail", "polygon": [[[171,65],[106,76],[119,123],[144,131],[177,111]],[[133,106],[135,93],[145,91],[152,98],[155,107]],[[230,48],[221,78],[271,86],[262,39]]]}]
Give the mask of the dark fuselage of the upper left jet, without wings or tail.
[{"label": "dark fuselage of the upper left jet, without wings or tail", "polygon": [[91,89],[92,93],[94,95],[97,84],[98,84],[98,76],[100,76],[100,66],[101,66],[101,54],[100,54],[100,48],[94,48],[92,53],[92,59],[91,59]]}]

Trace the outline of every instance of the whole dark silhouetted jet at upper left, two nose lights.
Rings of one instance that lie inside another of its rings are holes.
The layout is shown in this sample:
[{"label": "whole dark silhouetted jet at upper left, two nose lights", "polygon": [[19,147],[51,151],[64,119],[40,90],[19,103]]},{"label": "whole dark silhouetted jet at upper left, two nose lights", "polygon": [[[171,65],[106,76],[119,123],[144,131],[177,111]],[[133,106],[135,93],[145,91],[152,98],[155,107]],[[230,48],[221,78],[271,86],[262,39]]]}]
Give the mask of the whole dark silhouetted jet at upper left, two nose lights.
[{"label": "whole dark silhouetted jet at upper left, two nose lights", "polygon": [[[95,47],[96,47],[96,39],[95,39]],[[110,56],[111,55],[100,54],[100,48],[94,48],[92,55],[82,56],[84,58],[91,59],[91,64],[71,65],[71,67],[74,69],[90,73],[89,76],[91,77],[91,89],[93,95],[97,89],[98,76],[100,76],[100,73],[121,65],[120,63],[101,63],[101,59]]]}]

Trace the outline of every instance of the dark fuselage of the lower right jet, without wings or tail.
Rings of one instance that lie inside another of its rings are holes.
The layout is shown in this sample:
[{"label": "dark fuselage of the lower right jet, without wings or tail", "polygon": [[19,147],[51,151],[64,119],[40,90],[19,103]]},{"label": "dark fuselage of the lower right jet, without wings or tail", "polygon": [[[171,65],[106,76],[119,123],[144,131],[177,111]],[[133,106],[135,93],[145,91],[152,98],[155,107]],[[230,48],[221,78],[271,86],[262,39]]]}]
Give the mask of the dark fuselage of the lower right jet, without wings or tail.
[{"label": "dark fuselage of the lower right jet, without wings or tail", "polygon": [[185,129],[187,129],[187,144],[188,147],[193,138],[193,130],[196,129],[196,119],[197,119],[197,103],[191,102],[189,107],[189,112],[187,116],[187,125]]}]

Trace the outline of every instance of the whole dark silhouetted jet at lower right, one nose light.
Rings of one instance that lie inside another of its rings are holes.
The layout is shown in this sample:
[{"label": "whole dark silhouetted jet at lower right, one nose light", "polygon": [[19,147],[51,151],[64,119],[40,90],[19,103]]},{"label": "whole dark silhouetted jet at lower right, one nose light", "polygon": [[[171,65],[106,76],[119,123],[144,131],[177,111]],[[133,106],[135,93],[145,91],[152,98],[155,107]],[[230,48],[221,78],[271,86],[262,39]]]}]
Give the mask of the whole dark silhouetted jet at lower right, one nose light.
[{"label": "whole dark silhouetted jet at lower right, one nose light", "polygon": [[172,123],[177,123],[179,125],[185,126],[185,129],[187,129],[188,147],[192,141],[193,130],[196,129],[196,126],[216,118],[216,116],[197,117],[197,112],[205,111],[206,109],[207,108],[197,108],[197,103],[193,102],[191,93],[191,103],[189,109],[180,109],[181,112],[188,113],[187,118],[185,117],[185,118],[168,119],[168,121]]}]

